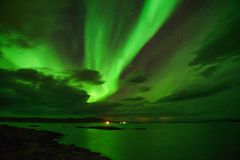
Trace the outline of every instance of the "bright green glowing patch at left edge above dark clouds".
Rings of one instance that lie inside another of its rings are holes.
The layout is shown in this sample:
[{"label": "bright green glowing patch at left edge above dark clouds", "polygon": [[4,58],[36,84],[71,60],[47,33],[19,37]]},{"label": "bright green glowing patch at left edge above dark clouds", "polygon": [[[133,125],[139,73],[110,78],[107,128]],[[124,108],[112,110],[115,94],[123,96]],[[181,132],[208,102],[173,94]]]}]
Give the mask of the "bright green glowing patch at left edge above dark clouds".
[{"label": "bright green glowing patch at left edge above dark clouds", "polygon": [[[21,37],[18,34],[2,35],[0,40],[6,42],[1,48],[3,52],[3,62],[8,61],[13,68],[51,68],[56,71],[62,71],[64,65],[60,62],[55,50],[48,41],[37,43],[33,47],[21,47],[12,44],[11,40],[17,40]],[[4,63],[0,63],[2,67]],[[11,66],[9,64],[6,67]]]}]

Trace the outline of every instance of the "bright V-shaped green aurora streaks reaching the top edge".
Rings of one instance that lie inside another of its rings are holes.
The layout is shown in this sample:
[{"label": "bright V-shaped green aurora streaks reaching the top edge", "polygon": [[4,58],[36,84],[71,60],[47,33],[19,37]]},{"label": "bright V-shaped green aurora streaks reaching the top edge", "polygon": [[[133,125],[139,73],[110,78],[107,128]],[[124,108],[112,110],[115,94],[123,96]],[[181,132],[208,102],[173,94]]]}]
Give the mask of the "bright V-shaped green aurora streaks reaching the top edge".
[{"label": "bright V-shaped green aurora streaks reaching the top edge", "polygon": [[[85,67],[97,70],[105,81],[93,86],[85,84],[90,94],[89,102],[110,96],[118,89],[118,80],[127,65],[141,48],[153,37],[173,12],[178,0],[146,0],[142,11],[131,26],[130,33],[121,39],[126,21],[117,19],[114,8],[117,1],[89,0],[85,21]],[[107,5],[107,10],[105,7]],[[127,18],[128,12],[125,17]],[[121,15],[122,16],[122,15]],[[113,32],[114,33],[111,33]],[[121,39],[121,41],[120,41]],[[111,45],[115,44],[114,47]]]}]

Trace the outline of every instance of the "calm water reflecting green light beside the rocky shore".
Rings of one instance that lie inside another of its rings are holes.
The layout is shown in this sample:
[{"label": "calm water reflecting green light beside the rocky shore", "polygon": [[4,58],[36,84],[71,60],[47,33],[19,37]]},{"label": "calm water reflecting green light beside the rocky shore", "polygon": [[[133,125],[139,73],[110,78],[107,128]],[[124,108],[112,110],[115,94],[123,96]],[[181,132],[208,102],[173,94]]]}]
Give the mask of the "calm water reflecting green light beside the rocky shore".
[{"label": "calm water reflecting green light beside the rocky shore", "polygon": [[[31,123],[8,123],[29,127]],[[127,130],[76,128],[97,124],[34,123],[65,135],[60,141],[113,160],[217,160],[240,158],[240,123],[125,124]],[[99,125],[99,124],[98,124]],[[146,130],[133,130],[147,128]],[[237,157],[239,156],[239,157]]]}]

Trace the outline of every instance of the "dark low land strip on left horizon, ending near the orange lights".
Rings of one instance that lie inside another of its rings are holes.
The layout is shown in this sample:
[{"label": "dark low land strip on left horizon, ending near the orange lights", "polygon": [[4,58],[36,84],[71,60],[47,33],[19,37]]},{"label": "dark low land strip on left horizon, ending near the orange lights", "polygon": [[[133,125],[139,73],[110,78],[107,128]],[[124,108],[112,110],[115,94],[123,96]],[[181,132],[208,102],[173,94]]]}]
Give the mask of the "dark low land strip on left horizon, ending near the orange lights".
[{"label": "dark low land strip on left horizon, ending near the orange lights", "polygon": [[19,118],[19,117],[0,117],[0,122],[55,122],[55,123],[104,123],[111,121],[117,123],[117,121],[107,120],[97,117],[88,118]]}]

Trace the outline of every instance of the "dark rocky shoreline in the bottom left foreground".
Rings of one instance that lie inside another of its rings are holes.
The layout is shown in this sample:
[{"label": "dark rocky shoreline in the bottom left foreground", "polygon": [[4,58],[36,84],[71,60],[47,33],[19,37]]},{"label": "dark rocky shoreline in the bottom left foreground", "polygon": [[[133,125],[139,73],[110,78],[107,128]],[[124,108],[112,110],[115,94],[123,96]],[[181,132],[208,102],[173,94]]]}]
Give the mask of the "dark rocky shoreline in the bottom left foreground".
[{"label": "dark rocky shoreline in the bottom left foreground", "polygon": [[0,125],[0,160],[110,160],[100,153],[59,144],[60,133]]}]

